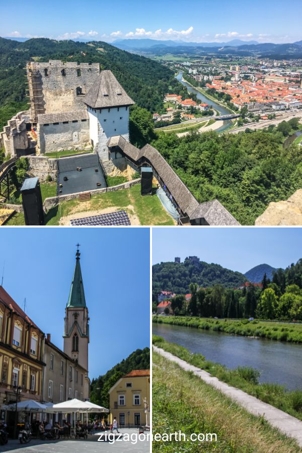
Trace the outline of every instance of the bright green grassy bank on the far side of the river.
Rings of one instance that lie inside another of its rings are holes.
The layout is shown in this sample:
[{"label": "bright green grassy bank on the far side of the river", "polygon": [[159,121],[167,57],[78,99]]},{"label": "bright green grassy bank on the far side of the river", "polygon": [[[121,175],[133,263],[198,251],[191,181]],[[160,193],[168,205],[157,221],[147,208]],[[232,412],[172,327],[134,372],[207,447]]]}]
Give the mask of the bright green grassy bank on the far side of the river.
[{"label": "bright green grassy bank on the far side of the river", "polygon": [[214,330],[245,337],[267,338],[269,340],[302,343],[302,323],[264,322],[247,319],[211,319],[190,316],[153,316],[154,323],[174,324],[176,326],[195,327],[196,329]]}]

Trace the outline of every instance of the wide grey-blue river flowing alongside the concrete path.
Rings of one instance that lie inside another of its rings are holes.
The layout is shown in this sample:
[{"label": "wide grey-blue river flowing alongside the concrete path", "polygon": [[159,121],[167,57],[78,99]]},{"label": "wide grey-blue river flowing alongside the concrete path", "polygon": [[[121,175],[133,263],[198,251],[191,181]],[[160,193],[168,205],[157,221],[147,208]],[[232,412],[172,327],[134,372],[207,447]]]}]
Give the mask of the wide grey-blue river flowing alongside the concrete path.
[{"label": "wide grey-blue river flowing alongside the concrete path", "polygon": [[302,389],[301,345],[157,323],[153,323],[152,333],[228,368],[257,368],[260,382]]}]

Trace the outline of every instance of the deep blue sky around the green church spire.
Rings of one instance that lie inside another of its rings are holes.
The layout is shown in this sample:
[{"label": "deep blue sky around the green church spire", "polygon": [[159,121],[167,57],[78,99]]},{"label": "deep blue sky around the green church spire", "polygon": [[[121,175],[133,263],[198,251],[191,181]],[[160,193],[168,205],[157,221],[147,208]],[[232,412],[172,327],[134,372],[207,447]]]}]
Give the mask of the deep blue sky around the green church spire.
[{"label": "deep blue sky around the green church spire", "polygon": [[28,316],[62,348],[78,241],[92,379],[149,347],[149,229],[2,228],[0,272],[5,261],[3,287],[22,309],[26,297]]}]

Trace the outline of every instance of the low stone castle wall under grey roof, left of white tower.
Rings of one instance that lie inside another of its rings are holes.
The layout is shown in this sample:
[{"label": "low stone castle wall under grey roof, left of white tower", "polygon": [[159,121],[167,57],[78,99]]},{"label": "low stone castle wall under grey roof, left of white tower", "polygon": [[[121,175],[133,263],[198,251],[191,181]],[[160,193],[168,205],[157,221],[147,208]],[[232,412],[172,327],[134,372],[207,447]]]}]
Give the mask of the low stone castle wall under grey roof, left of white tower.
[{"label": "low stone castle wall under grey roof, left of white tower", "polygon": [[60,152],[64,149],[88,149],[90,145],[89,121],[74,120],[38,124],[38,153]]}]

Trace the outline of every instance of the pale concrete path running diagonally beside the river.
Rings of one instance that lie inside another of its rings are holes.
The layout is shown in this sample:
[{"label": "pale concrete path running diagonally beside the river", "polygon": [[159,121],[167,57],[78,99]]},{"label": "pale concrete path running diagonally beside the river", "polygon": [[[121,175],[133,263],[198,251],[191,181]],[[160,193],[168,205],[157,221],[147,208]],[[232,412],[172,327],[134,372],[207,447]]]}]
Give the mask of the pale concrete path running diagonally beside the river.
[{"label": "pale concrete path running diagonally beside the river", "polygon": [[232,400],[235,400],[238,404],[240,404],[240,406],[244,407],[251,414],[263,416],[263,418],[265,418],[272,426],[278,428],[287,436],[295,438],[299,446],[302,447],[302,421],[286,414],[283,411],[280,411],[270,404],[263,403],[242,390],[236,389],[235,387],[231,387],[228,384],[219,381],[207,371],[197,368],[194,365],[190,365],[170,352],[164,351],[164,349],[158,348],[157,346],[153,346],[153,349],[155,352],[158,352],[168,360],[177,363],[184,370],[193,371],[193,373],[202,379],[202,381],[206,384],[220,390],[220,392],[230,397]]}]

